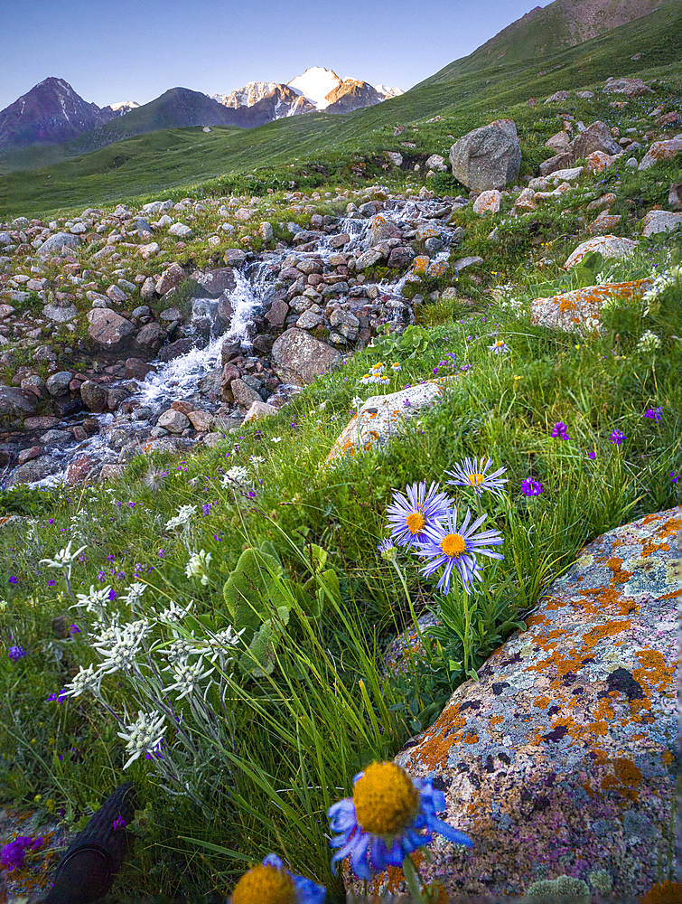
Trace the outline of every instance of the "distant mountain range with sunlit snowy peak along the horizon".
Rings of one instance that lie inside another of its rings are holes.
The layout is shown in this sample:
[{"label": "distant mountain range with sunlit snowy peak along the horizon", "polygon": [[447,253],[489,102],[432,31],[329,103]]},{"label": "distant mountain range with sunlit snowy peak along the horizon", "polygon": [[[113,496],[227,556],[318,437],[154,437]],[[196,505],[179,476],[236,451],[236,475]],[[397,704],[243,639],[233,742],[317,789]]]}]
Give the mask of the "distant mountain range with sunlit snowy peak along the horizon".
[{"label": "distant mountain range with sunlit snowy peak along the horizon", "polygon": [[331,70],[313,67],[288,85],[251,81],[244,88],[214,98],[187,88],[173,88],[142,106],[127,100],[99,108],[82,99],[68,82],[50,78],[0,111],[0,149],[82,139],[77,142],[79,149],[90,151],[160,128],[253,128],[314,110],[350,113],[398,94],[402,94],[399,89],[341,80]]}]

